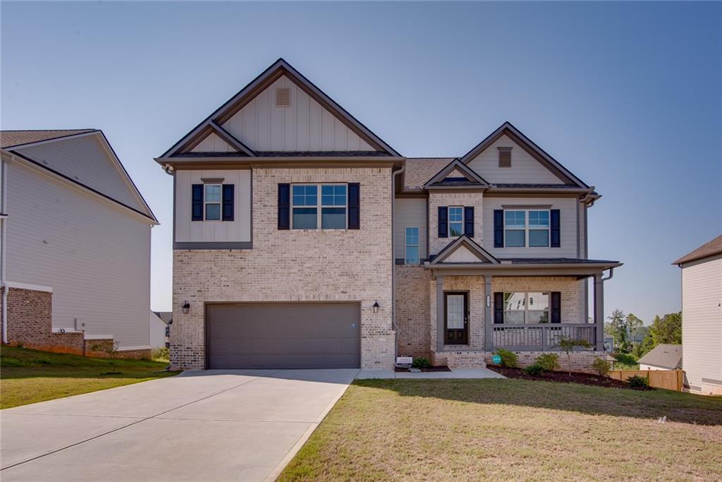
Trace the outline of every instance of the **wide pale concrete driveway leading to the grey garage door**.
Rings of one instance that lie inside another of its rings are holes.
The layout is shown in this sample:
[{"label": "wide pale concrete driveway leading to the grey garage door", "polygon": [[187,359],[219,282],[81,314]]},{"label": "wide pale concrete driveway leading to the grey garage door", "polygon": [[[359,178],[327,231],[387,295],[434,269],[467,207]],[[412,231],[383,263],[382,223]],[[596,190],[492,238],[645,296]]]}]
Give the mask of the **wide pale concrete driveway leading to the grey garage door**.
[{"label": "wide pale concrete driveway leading to the grey garage door", "polygon": [[357,373],[186,372],[1,410],[0,478],[272,480]]}]

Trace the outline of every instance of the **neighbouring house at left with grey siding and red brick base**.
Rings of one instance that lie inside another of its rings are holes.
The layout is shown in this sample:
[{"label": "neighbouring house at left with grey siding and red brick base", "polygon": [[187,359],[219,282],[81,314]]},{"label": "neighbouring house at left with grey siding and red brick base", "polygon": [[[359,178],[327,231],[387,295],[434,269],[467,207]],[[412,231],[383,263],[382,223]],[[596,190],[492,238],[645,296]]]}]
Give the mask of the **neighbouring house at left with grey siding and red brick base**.
[{"label": "neighbouring house at left with grey siding and red brick base", "polygon": [[157,224],[103,132],[3,131],[4,343],[149,354],[150,231]]}]

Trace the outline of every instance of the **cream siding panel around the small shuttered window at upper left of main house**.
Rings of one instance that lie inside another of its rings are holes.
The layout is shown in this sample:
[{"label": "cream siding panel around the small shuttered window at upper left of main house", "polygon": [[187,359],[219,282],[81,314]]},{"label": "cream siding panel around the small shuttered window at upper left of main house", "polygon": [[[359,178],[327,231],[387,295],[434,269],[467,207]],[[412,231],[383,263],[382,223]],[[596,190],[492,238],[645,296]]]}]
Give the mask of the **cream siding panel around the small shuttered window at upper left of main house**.
[{"label": "cream siding panel around the small shuttered window at upper left of main house", "polygon": [[[234,184],[232,221],[191,221],[191,189],[202,179]],[[175,242],[251,241],[251,170],[175,171]]]}]

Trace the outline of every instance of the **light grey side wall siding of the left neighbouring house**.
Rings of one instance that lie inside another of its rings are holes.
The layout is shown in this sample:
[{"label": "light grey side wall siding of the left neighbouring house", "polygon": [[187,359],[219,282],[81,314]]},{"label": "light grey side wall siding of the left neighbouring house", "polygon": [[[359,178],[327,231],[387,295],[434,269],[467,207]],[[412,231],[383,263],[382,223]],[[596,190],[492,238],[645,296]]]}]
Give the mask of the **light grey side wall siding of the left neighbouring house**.
[{"label": "light grey side wall siding of the left neighbouring house", "polygon": [[147,347],[150,221],[42,168],[9,163],[7,280],[53,288],[53,328]]}]

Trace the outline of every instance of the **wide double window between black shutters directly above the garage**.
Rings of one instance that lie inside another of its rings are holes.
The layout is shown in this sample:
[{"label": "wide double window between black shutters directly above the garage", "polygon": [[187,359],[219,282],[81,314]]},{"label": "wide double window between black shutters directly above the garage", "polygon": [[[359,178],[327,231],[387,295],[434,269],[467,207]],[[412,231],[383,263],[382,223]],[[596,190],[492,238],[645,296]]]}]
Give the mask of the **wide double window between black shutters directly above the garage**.
[{"label": "wide double window between black shutters directly above the garage", "polygon": [[294,184],[292,210],[293,229],[346,229],[347,185]]}]

